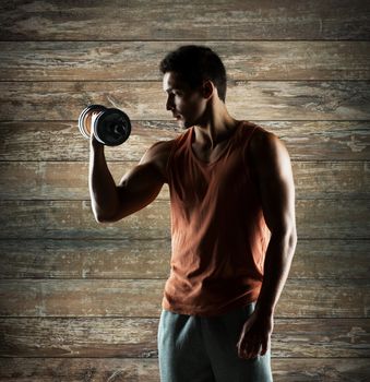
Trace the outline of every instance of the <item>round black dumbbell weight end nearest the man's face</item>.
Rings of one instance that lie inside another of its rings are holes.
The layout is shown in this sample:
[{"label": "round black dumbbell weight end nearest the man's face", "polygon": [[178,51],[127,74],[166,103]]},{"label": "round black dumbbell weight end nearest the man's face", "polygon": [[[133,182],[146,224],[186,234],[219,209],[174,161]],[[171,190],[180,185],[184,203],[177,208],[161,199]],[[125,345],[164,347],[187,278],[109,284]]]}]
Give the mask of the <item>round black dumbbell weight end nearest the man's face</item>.
[{"label": "round black dumbbell weight end nearest the man's face", "polygon": [[106,109],[95,119],[94,135],[107,146],[117,146],[123,143],[130,133],[130,118],[119,109]]}]

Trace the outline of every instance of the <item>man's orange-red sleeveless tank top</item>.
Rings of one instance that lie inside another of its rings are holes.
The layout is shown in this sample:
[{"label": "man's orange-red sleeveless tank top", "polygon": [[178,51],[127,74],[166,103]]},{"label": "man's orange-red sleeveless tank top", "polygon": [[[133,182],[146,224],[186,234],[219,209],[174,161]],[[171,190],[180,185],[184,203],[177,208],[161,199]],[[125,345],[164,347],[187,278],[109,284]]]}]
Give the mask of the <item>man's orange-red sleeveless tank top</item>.
[{"label": "man's orange-red sleeveless tank top", "polygon": [[249,171],[255,128],[239,123],[212,163],[194,155],[193,127],[174,142],[167,163],[172,253],[166,310],[216,315],[260,294],[270,231]]}]

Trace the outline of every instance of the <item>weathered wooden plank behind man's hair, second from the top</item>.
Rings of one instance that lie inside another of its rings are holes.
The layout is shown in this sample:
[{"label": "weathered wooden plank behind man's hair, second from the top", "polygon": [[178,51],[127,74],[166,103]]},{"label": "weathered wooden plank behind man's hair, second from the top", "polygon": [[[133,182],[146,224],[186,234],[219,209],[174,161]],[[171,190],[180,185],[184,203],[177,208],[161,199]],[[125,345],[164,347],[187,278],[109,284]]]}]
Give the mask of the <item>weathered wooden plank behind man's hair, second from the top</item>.
[{"label": "weathered wooden plank behind man's hair, second from the top", "polygon": [[[217,51],[229,80],[370,79],[369,41],[234,41],[231,50],[224,41],[199,44]],[[167,51],[179,45],[180,41],[0,41],[0,77],[162,81],[158,64]]]}]

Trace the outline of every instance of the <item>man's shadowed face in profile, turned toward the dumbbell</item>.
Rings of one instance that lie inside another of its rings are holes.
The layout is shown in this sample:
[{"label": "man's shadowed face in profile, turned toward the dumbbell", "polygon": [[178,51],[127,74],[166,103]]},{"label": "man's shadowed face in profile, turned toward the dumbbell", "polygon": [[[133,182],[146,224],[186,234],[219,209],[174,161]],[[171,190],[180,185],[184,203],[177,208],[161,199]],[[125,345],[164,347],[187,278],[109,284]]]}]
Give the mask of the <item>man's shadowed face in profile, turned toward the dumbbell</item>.
[{"label": "man's shadowed face in profile, turned toward the dumbbell", "polygon": [[201,123],[206,107],[202,86],[190,88],[177,73],[167,72],[163,79],[163,88],[167,93],[166,109],[171,111],[183,129]]}]

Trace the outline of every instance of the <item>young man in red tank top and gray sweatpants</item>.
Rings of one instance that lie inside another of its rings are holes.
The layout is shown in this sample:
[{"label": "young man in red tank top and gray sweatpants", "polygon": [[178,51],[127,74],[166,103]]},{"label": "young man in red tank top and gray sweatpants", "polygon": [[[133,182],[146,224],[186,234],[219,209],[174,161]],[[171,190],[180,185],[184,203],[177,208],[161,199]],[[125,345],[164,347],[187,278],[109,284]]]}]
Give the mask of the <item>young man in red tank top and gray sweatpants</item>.
[{"label": "young man in red tank top and gray sweatpants", "polygon": [[150,147],[116,186],[91,139],[97,222],[150,204],[168,183],[171,268],[158,326],[163,382],[268,382],[277,300],[296,247],[288,153],[272,133],[234,119],[226,71],[210,48],[183,46],[160,62],[166,108],[183,133]]}]

